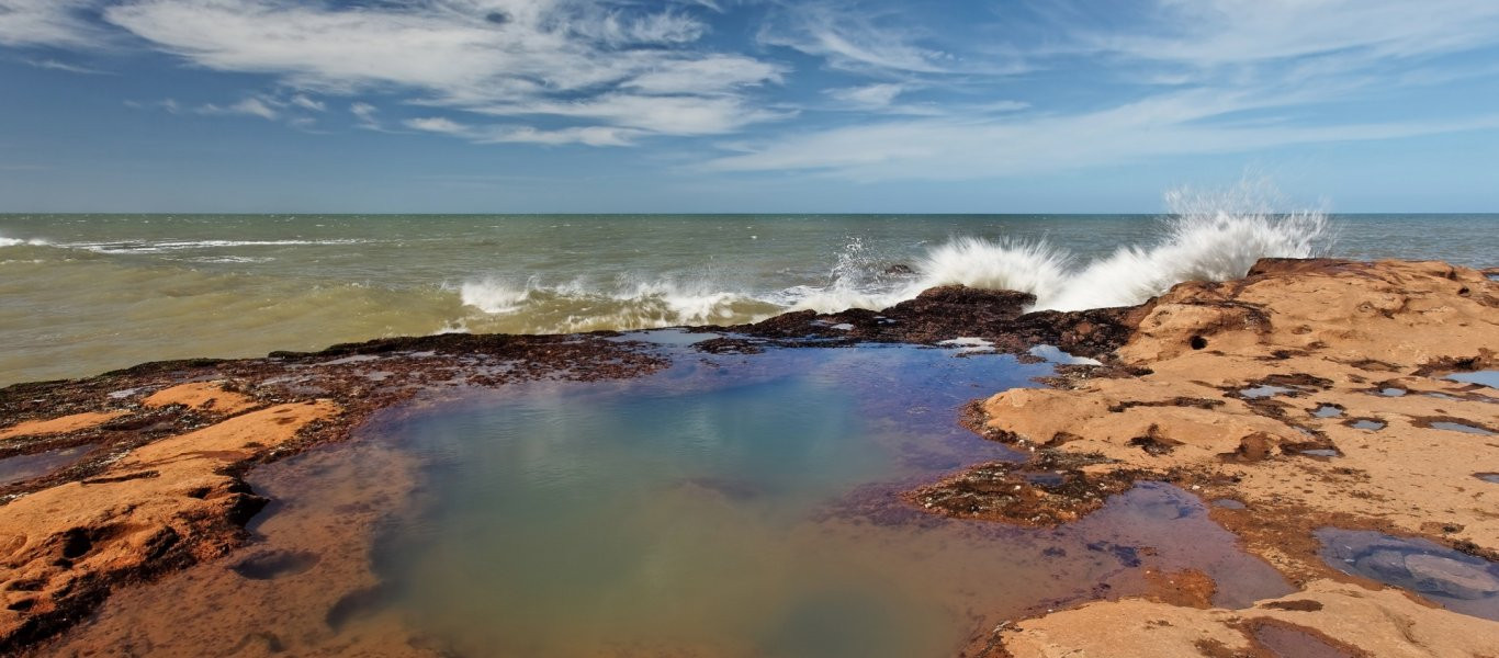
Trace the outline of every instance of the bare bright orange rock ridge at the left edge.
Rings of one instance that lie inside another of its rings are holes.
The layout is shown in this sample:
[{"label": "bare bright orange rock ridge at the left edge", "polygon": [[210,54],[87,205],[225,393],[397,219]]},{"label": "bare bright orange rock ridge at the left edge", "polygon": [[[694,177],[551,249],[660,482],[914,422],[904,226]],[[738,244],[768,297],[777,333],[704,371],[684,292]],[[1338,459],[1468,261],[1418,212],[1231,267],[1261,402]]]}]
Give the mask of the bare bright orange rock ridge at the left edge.
[{"label": "bare bright orange rock ridge at the left edge", "polygon": [[0,514],[0,637],[48,634],[114,580],[226,552],[265,499],[223,469],[337,412],[327,400],[268,405],[12,501]]}]

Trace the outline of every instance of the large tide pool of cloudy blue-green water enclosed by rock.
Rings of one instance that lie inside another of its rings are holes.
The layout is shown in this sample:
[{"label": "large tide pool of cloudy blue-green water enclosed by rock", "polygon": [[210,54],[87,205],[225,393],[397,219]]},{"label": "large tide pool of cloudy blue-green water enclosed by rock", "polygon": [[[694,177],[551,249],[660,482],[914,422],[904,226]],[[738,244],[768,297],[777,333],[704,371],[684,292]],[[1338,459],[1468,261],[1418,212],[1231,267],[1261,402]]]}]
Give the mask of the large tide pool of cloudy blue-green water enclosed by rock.
[{"label": "large tide pool of cloudy blue-green water enclosed by rock", "polygon": [[1063,529],[866,513],[1013,457],[958,408],[1046,364],[905,346],[676,361],[385,427],[427,465],[426,507],[379,547],[390,604],[460,655],[910,658],[1138,591],[1148,565],[1202,568],[1225,604],[1285,592],[1168,486]]}]

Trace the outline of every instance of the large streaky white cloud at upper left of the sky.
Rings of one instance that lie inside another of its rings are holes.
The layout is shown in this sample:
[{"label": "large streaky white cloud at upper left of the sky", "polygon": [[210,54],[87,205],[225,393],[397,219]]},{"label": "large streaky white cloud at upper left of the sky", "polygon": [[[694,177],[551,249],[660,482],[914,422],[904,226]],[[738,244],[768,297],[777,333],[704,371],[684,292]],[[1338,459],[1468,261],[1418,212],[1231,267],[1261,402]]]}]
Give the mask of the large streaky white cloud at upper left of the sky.
[{"label": "large streaky white cloud at upper left of the sky", "polygon": [[624,0],[358,9],[138,0],[103,15],[198,66],[271,73],[328,94],[409,93],[418,105],[660,135],[732,132],[781,115],[755,109],[748,96],[779,81],[779,66],[700,48],[708,25],[684,9],[649,10]]}]

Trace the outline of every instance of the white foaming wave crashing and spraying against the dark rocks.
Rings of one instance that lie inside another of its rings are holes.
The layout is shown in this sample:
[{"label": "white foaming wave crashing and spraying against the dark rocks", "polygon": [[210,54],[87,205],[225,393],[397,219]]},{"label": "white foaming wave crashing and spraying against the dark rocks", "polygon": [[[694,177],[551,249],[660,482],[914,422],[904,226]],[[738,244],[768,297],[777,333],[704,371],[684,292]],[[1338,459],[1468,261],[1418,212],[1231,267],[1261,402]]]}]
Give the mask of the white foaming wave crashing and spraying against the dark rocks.
[{"label": "white foaming wave crashing and spraying against the dark rocks", "polygon": [[1036,310],[1142,303],[1186,280],[1244,276],[1261,258],[1325,253],[1334,231],[1322,211],[1276,211],[1265,184],[1225,192],[1174,190],[1169,213],[1144,240],[1079,256],[1046,240],[955,237],[911,265],[850,238],[820,283],[773,291],[730,289],[712,280],[567,282],[484,279],[459,288],[463,304],[489,315],[528,316],[535,331],[649,328],[750,322],[785,310],[884,309],[928,288],[965,285],[1036,295]]}]

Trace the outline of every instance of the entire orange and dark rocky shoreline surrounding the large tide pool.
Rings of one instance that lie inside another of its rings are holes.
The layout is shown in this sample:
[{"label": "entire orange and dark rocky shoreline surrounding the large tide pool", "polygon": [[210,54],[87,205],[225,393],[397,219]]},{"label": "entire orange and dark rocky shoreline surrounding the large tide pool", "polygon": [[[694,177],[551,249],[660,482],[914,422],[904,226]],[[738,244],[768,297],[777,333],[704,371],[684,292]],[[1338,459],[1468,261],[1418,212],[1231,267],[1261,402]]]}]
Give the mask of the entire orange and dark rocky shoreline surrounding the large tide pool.
[{"label": "entire orange and dark rocky shoreline surrounding the large tide pool", "polygon": [[[1316,537],[1378,531],[1499,558],[1499,483],[1483,478],[1499,471],[1499,399],[1441,378],[1496,367],[1499,285],[1484,273],[1262,261],[1246,279],[1183,283],[1132,309],[1022,313],[1028,301],[937,288],[883,312],[700,328],[721,337],[696,349],[965,337],[1001,352],[1054,345],[1097,358],[1058,367],[1051,388],[970,408],[971,429],[1031,460],[965,469],[908,502],[959,519],[1055,525],[1136,481],[1171,481],[1220,501],[1213,519],[1303,589],[1222,610],[1192,594],[1210,592],[1211,580],[1168,574],[1147,598],[1003,624],[965,655],[1273,657],[1288,655],[1277,648],[1289,642],[1328,655],[1477,657],[1499,646],[1499,622],[1333,568]],[[345,442],[382,409],[433,391],[621,379],[664,366],[628,334],[448,334],[0,388],[0,465],[84,451],[0,484],[0,652],[48,651],[48,639],[126,585],[249,559],[246,523],[267,498],[247,474]],[[1418,562],[1402,568],[1487,595],[1483,570]],[[424,651],[387,643],[381,652]]]}]

